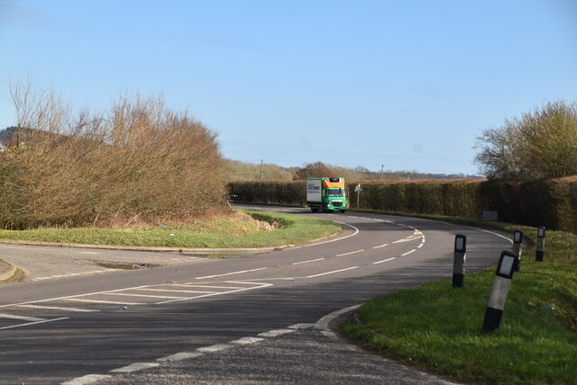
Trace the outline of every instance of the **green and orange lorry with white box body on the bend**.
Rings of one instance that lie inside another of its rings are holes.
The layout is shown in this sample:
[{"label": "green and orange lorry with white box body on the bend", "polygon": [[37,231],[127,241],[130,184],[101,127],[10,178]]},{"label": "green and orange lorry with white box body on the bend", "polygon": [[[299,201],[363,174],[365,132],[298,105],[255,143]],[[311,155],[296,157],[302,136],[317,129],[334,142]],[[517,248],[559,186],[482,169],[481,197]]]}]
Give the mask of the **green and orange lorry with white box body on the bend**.
[{"label": "green and orange lorry with white box body on the bend", "polygon": [[344,178],[307,178],[307,205],[313,212],[346,210]]}]

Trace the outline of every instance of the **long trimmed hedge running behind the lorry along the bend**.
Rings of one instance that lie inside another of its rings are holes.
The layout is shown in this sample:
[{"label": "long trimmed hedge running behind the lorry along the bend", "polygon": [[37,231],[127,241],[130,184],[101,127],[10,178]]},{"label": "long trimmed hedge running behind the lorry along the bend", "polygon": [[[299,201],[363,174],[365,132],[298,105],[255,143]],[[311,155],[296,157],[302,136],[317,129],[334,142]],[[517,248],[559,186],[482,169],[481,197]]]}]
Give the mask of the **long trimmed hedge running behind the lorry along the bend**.
[{"label": "long trimmed hedge running behind the lorry along the bend", "polygon": [[[349,207],[481,219],[483,210],[499,220],[545,226],[577,234],[577,176],[527,182],[422,180],[362,182],[357,207],[354,184],[347,184]],[[249,181],[228,184],[233,201],[305,206],[304,181]]]}]

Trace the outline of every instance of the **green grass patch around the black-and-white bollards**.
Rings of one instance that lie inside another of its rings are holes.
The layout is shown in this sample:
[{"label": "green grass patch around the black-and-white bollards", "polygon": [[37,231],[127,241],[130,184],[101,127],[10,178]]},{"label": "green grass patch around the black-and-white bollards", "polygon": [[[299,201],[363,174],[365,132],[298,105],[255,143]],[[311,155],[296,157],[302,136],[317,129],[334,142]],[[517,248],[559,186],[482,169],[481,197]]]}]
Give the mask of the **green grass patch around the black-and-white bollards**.
[{"label": "green grass patch around the black-and-white bollards", "polygon": [[[536,243],[536,228],[492,227],[521,229]],[[523,250],[499,330],[484,333],[494,275],[495,268],[468,274],[463,289],[447,280],[379,297],[357,310],[361,324],[343,331],[375,352],[458,381],[577,383],[577,237],[547,231],[542,263],[534,246]]]}]

